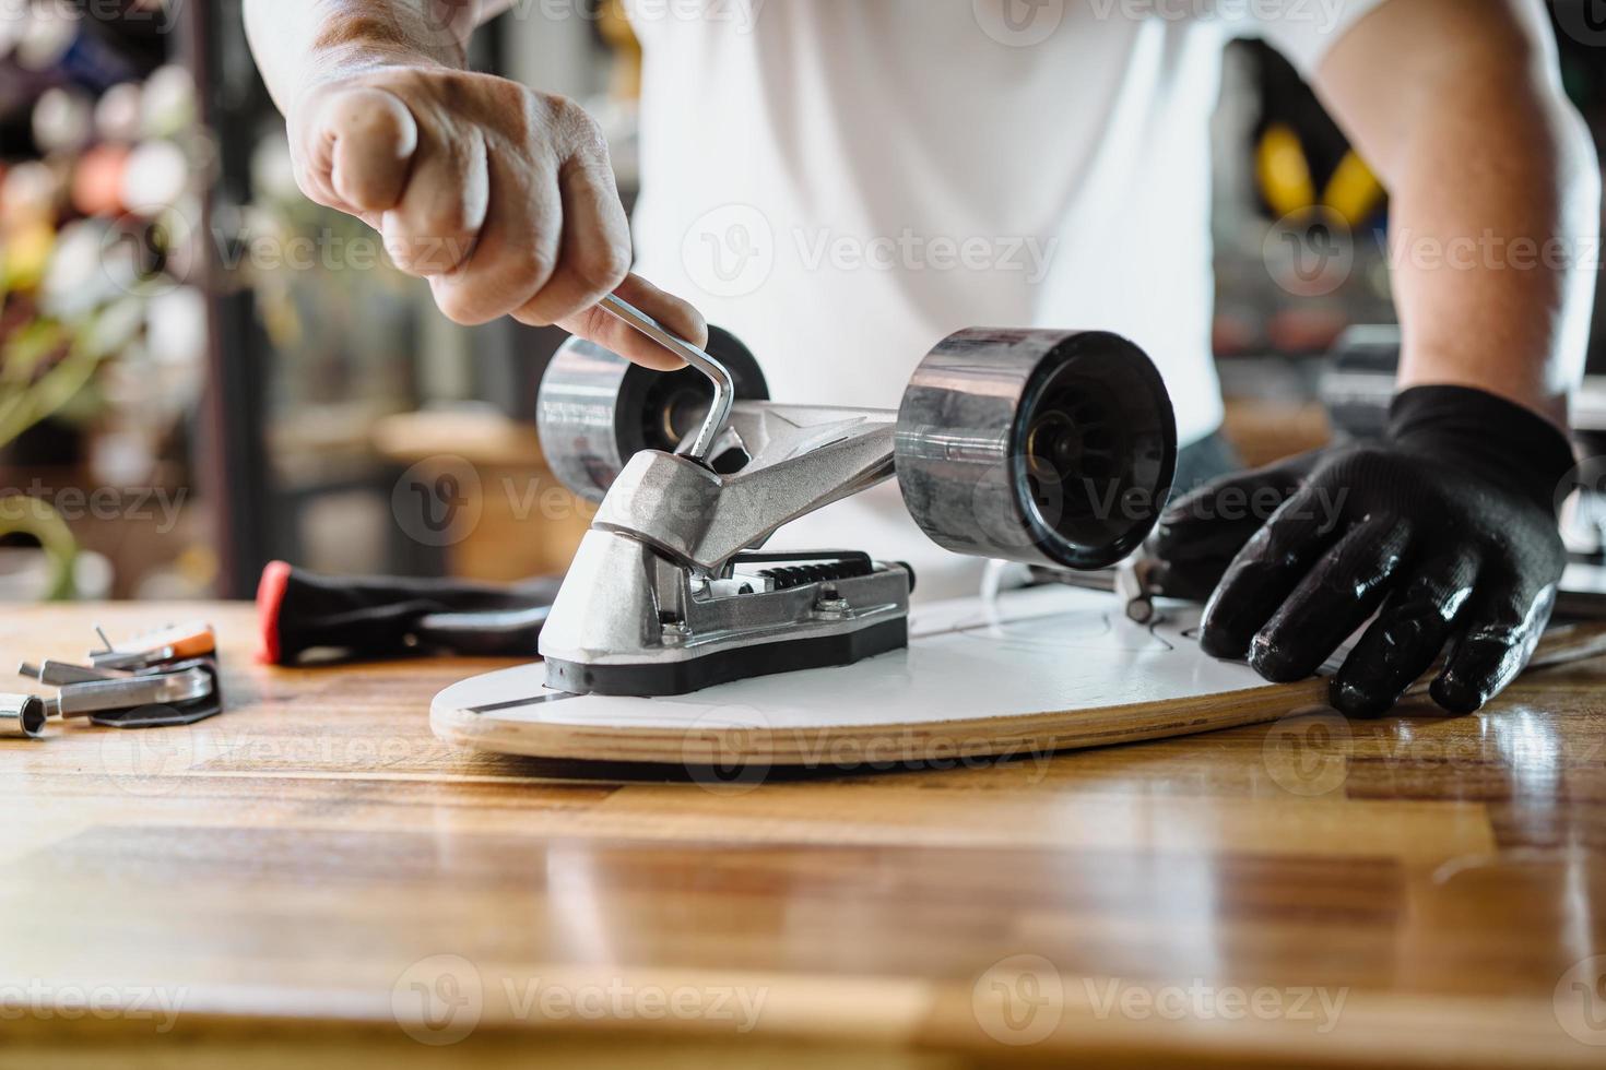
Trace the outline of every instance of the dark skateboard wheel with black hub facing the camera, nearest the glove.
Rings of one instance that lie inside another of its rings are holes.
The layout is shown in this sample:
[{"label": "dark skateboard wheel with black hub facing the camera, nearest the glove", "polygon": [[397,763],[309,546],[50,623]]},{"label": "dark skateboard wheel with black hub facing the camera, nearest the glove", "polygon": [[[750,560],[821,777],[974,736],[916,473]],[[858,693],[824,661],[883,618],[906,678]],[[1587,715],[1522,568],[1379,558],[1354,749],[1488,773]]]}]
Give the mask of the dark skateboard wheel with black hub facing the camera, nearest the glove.
[{"label": "dark skateboard wheel with black hub facing the camera, nearest the glove", "polygon": [[1153,529],[1177,427],[1155,364],[1119,335],[973,327],[920,361],[893,452],[938,545],[1089,569]]}]

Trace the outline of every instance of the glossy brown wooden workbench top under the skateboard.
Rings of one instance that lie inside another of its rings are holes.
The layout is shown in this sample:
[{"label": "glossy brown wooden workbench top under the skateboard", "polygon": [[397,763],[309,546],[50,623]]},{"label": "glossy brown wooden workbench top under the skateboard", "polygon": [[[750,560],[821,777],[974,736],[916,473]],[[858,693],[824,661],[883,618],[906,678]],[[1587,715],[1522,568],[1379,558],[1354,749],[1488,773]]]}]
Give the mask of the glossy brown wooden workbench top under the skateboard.
[{"label": "glossy brown wooden workbench top under the skateboard", "polygon": [[742,792],[451,751],[495,663],[271,671],[246,606],[0,653],[198,614],[225,715],[0,740],[0,1064],[1606,1065],[1603,661]]}]

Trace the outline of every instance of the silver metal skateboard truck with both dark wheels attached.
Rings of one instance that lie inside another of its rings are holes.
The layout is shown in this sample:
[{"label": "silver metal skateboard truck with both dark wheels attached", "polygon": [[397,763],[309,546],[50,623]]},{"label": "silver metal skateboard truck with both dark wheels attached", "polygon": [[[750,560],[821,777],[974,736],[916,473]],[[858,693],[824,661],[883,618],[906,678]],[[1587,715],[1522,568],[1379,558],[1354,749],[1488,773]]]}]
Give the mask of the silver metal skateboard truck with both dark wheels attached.
[{"label": "silver metal skateboard truck with both dark wheels attached", "polygon": [[1119,335],[960,330],[893,412],[769,401],[732,335],[710,329],[702,351],[604,306],[689,367],[652,372],[570,338],[541,380],[548,464],[601,502],[541,632],[554,690],[681,695],[904,646],[907,565],[761,549],[895,472],[940,545],[1073,569],[1135,550],[1171,488],[1171,401]]}]

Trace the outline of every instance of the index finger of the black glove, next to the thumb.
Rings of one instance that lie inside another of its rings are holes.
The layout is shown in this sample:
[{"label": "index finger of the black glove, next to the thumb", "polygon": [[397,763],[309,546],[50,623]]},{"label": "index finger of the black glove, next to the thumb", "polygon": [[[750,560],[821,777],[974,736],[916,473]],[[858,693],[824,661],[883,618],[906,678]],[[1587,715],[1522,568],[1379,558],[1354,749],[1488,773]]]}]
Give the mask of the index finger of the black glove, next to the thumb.
[{"label": "index finger of the black glove, next to the thumb", "polygon": [[1306,486],[1283,502],[1245,544],[1204,603],[1200,646],[1214,658],[1243,658],[1249,638],[1288,600],[1294,586],[1343,534],[1325,494]]}]

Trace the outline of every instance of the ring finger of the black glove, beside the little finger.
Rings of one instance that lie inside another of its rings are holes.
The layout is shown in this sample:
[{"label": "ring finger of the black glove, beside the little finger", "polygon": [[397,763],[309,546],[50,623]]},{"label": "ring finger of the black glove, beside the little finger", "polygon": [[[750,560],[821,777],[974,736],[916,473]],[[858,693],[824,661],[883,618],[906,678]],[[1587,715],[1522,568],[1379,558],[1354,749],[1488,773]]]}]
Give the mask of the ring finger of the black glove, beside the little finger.
[{"label": "ring finger of the black glove, beside the little finger", "polygon": [[1466,545],[1413,569],[1333,677],[1333,707],[1351,717],[1392,707],[1444,650],[1476,578],[1478,553]]}]

